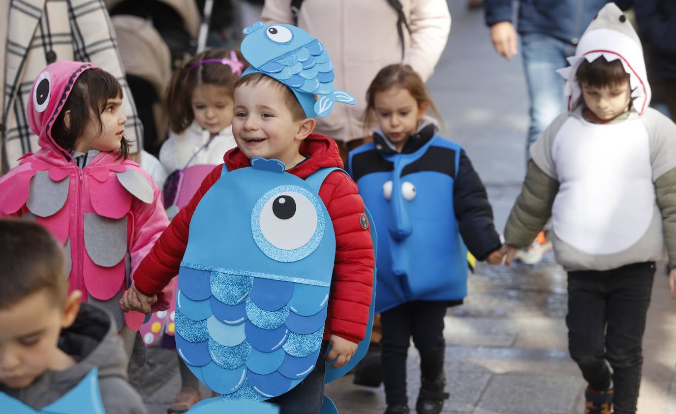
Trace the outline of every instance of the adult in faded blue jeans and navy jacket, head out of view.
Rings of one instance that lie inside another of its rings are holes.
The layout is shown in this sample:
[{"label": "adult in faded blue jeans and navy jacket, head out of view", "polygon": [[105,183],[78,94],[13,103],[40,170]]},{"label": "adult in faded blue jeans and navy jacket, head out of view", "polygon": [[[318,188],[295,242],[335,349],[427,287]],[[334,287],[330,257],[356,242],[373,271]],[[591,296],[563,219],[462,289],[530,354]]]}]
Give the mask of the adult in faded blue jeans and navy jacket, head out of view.
[{"label": "adult in faded blue jeans and navy jacket, head out of view", "polygon": [[[528,149],[540,133],[564,110],[564,80],[555,71],[568,66],[566,57],[607,0],[518,1],[518,34],[521,35],[523,66],[530,98],[531,126]],[[621,9],[631,0],[615,1]],[[512,0],[485,0],[486,24],[496,51],[507,59],[516,53],[517,36],[512,24]]]}]

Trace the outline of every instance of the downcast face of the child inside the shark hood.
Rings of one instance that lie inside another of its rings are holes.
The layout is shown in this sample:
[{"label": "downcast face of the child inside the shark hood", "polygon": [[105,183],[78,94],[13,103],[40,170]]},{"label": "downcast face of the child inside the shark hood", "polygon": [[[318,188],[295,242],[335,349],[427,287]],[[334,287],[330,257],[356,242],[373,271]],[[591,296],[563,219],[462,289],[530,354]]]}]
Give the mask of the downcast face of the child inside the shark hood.
[{"label": "downcast face of the child inside the shark hood", "polygon": [[590,111],[598,118],[610,121],[629,111],[631,89],[629,81],[602,87],[581,83],[582,96]]}]

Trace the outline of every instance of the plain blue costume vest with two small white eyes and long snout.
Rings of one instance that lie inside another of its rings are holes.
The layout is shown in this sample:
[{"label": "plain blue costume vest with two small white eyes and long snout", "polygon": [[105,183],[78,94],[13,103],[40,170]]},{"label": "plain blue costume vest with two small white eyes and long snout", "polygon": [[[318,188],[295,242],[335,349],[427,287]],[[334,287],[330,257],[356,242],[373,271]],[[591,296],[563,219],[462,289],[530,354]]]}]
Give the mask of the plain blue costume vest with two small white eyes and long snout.
[{"label": "plain blue costume vest with two small white eyes and long snout", "polygon": [[376,312],[466,296],[467,248],[453,205],[461,150],[434,136],[414,153],[385,154],[370,143],[349,154],[380,240]]}]

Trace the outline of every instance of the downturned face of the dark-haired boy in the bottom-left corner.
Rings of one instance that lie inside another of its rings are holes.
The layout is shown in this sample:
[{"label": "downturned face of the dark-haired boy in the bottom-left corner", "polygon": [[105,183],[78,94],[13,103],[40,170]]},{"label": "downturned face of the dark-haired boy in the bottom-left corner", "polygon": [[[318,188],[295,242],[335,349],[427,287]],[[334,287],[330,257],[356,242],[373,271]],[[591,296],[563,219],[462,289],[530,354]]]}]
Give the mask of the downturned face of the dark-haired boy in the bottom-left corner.
[{"label": "downturned face of the dark-haired boy in the bottom-left corner", "polygon": [[81,294],[72,292],[64,305],[50,293],[43,288],[0,309],[0,383],[9,388],[26,388],[47,369],[73,364],[57,342],[75,320]]}]

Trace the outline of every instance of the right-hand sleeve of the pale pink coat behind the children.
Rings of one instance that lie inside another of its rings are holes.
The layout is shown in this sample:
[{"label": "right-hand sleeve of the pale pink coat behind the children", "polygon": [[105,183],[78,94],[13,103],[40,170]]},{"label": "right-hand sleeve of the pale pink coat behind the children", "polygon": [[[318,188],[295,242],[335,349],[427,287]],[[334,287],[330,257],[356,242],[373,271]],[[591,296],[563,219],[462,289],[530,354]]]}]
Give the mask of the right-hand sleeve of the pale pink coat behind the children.
[{"label": "right-hand sleeve of the pale pink coat behind the children", "polygon": [[427,81],[446,47],[451,30],[451,14],[446,0],[412,0],[408,26],[411,44],[405,51],[404,63]]}]

